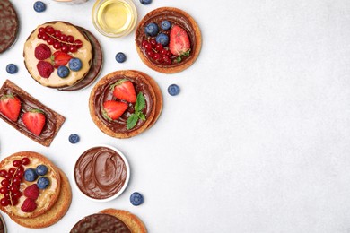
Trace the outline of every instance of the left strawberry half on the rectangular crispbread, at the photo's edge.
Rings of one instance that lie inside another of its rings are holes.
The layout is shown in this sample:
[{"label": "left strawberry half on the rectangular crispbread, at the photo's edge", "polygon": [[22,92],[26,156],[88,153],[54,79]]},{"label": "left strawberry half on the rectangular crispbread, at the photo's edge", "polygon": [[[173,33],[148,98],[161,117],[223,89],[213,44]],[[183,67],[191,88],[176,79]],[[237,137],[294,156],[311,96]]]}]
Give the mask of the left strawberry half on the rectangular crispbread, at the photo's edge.
[{"label": "left strawberry half on the rectangular crispbread, at the photo's edge", "polygon": [[12,121],[17,121],[21,112],[21,100],[13,95],[0,98],[0,112]]}]

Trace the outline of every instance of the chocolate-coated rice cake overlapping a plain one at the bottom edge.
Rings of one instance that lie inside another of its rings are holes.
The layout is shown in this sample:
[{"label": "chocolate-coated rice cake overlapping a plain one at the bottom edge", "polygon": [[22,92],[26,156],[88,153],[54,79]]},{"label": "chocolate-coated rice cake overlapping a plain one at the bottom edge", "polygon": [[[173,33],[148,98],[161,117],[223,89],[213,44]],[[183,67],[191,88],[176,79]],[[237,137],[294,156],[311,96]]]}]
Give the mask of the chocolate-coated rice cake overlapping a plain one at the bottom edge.
[{"label": "chocolate-coated rice cake overlapping a plain one at the bottom edge", "polygon": [[71,233],[131,233],[127,225],[118,218],[104,213],[95,213],[79,220]]}]

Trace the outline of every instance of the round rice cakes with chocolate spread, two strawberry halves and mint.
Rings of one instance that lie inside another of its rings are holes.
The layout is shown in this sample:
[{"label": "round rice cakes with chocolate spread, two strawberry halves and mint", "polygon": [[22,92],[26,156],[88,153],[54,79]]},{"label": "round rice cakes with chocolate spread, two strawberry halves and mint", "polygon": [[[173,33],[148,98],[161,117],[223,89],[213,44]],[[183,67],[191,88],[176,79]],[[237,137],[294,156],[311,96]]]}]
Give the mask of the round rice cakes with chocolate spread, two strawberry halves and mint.
[{"label": "round rice cakes with chocolate spread, two strawberry halves and mint", "polygon": [[129,138],[141,134],[158,119],[162,112],[162,92],[145,73],[117,71],[96,83],[89,108],[93,122],[103,133]]}]

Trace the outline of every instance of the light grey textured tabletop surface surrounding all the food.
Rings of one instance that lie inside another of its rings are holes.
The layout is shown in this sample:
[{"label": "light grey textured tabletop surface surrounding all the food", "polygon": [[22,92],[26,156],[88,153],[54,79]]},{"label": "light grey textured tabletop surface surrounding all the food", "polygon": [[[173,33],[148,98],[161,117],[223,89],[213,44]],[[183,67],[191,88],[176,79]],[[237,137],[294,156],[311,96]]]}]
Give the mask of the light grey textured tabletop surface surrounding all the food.
[{"label": "light grey textured tabletop surface surrounding all the food", "polygon": [[[197,62],[176,74],[156,73],[137,56],[134,35],[108,39],[94,30],[93,2],[13,0],[21,18],[14,47],[0,55],[0,82],[9,78],[66,116],[45,148],[0,121],[1,158],[38,151],[70,177],[80,153],[105,143],[124,151],[132,175],[124,194],[93,203],[73,187],[66,216],[48,229],[68,232],[77,220],[113,207],[136,213],[150,232],[350,232],[350,2],[347,0],[153,0],[136,3],[139,19],[160,6],[190,13],[203,34]],[[73,93],[44,88],[25,70],[25,39],[43,22],[63,20],[91,30],[104,50],[101,76],[137,69],[159,83],[162,116],[132,139],[102,134],[87,108],[92,87]],[[127,62],[114,60],[117,52]],[[15,75],[8,63],[19,65]],[[181,93],[166,92],[171,83]],[[81,135],[72,145],[69,134]],[[73,185],[73,184],[72,184]],[[145,202],[132,206],[129,194]]]}]

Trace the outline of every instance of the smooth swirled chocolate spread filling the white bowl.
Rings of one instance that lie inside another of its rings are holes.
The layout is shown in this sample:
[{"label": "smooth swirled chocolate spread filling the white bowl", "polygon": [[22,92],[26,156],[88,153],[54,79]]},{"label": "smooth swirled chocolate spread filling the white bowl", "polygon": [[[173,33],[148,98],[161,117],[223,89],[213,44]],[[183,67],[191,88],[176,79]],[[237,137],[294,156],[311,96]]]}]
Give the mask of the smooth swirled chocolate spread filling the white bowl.
[{"label": "smooth swirled chocolate spread filling the white bowl", "polygon": [[124,186],[127,166],[117,151],[93,147],[83,152],[76,161],[74,177],[83,194],[94,199],[106,199]]}]

